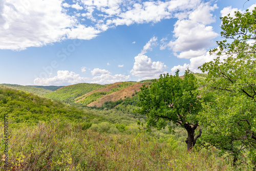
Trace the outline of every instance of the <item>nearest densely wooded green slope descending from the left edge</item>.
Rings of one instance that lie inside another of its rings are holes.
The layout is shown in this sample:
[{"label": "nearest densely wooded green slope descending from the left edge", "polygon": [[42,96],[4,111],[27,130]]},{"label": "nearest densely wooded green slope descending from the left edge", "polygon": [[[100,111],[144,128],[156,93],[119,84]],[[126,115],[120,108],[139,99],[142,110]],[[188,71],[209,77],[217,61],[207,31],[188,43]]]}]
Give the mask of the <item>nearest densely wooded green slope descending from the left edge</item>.
[{"label": "nearest densely wooded green slope descending from the left edge", "polygon": [[82,116],[88,117],[74,106],[4,87],[0,87],[0,109],[2,120],[4,114],[8,114],[9,123],[15,125],[22,122],[34,124],[53,118],[78,121]]}]

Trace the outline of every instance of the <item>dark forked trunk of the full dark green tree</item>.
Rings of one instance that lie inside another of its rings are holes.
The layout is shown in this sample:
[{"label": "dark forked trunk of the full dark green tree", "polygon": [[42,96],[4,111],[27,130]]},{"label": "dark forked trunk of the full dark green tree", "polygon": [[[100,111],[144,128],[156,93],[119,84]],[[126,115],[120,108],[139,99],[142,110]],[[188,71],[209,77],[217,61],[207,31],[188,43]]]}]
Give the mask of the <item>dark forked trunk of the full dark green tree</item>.
[{"label": "dark forked trunk of the full dark green tree", "polygon": [[191,127],[190,124],[185,125],[185,129],[187,131],[187,139],[186,139],[186,144],[187,144],[187,151],[190,151],[196,144],[197,139],[201,136],[202,131],[201,129],[199,130],[199,134],[195,137],[195,130],[197,129],[198,125],[192,125]]}]

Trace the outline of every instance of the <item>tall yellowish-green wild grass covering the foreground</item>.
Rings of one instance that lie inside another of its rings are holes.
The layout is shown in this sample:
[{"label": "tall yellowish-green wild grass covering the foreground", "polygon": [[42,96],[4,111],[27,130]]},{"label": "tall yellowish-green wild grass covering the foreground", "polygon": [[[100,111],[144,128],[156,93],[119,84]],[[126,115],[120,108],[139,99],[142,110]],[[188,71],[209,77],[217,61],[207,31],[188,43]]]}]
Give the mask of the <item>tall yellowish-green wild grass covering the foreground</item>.
[{"label": "tall yellowish-green wild grass covering the foreground", "polygon": [[[0,125],[3,125],[2,123]],[[3,139],[3,126],[0,133]],[[107,134],[68,122],[39,122],[10,130],[5,170],[233,170],[211,151],[189,153],[147,134]],[[1,144],[1,154],[4,146]],[[244,165],[242,170],[250,170]]]}]

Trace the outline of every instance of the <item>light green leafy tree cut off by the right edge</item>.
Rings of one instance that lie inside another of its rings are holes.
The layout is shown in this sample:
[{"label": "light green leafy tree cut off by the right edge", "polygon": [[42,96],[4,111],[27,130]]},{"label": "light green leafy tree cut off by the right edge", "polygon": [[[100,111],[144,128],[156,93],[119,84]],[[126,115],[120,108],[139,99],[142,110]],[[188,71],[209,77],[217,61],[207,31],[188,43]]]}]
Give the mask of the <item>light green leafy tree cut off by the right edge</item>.
[{"label": "light green leafy tree cut off by the right edge", "polygon": [[[231,154],[234,163],[243,150],[256,150],[255,17],[255,9],[222,17],[221,35],[226,39],[210,51],[217,58],[200,68],[208,72],[199,116],[204,142]],[[252,161],[256,168],[256,158]]]}]

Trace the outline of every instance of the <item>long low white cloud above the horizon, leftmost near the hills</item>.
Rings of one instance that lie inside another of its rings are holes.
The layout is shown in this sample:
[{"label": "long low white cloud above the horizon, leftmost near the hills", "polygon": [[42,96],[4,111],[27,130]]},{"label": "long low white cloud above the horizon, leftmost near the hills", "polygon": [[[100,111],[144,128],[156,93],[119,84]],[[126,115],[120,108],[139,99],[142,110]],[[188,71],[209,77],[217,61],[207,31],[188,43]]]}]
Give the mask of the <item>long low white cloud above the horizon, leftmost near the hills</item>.
[{"label": "long low white cloud above the horizon, leftmost near the hills", "polygon": [[70,84],[86,82],[88,78],[69,71],[58,71],[57,76],[50,78],[36,78],[34,84],[39,86],[67,86]]}]

